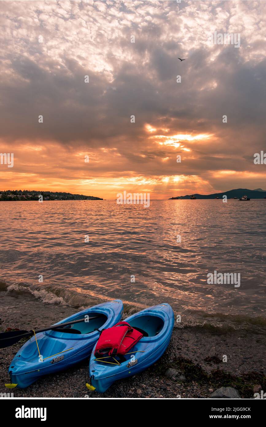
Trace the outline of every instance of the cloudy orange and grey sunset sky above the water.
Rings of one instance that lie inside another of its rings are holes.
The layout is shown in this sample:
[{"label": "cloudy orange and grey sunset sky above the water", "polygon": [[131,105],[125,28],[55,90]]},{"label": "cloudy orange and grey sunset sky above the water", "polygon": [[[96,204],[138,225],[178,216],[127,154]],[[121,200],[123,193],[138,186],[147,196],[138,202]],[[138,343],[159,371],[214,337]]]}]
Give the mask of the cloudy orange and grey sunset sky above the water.
[{"label": "cloudy orange and grey sunset sky above the water", "polygon": [[[1,190],[164,199],[266,189],[266,165],[253,162],[266,151],[265,1],[0,10],[0,152],[14,153]],[[240,47],[210,44],[214,31],[240,33]]]}]

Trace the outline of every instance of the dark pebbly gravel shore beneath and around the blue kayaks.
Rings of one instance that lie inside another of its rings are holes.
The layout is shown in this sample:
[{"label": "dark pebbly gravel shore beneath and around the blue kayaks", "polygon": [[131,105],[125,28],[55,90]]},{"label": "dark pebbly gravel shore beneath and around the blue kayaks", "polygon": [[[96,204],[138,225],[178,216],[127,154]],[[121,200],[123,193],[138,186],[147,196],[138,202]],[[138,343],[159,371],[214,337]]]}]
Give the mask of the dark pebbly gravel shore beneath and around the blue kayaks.
[{"label": "dark pebbly gravel shore beneath and around the blue kayaks", "polygon": [[[73,307],[0,292],[0,328],[46,327],[75,313]],[[33,316],[35,313],[35,316]],[[100,395],[90,392],[88,360],[67,371],[40,378],[26,389],[12,389],[14,397],[77,398],[210,398],[222,386],[234,387],[242,398],[254,398],[254,388],[266,389],[266,337],[245,331],[219,333],[203,328],[174,328],[163,357],[150,369],[114,383]],[[0,350],[0,392],[6,392],[8,368],[21,343]],[[227,357],[227,362],[223,359]],[[165,375],[176,370],[176,379]]]}]

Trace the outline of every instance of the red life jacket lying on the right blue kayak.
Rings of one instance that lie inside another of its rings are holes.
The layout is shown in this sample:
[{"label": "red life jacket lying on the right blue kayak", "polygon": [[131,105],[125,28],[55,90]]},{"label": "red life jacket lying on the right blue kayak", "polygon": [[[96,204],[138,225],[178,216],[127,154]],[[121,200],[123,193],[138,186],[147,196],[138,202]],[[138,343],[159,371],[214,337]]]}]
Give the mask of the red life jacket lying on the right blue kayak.
[{"label": "red life jacket lying on the right blue kayak", "polygon": [[142,333],[132,328],[127,322],[118,322],[112,328],[104,329],[95,347],[94,355],[101,357],[126,354],[141,338]]}]

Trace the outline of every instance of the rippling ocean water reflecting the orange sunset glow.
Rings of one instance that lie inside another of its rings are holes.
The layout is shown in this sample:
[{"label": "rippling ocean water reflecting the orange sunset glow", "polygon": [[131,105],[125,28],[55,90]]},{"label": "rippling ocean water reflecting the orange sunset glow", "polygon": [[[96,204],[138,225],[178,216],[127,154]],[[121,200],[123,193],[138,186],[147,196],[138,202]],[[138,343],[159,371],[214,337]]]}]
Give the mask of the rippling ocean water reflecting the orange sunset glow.
[{"label": "rippling ocean water reflecting the orange sunset glow", "polygon": [[[168,302],[179,326],[260,330],[265,213],[266,200],[150,201],[149,208],[115,200],[0,202],[3,290],[40,298],[47,310],[121,298],[131,313]],[[214,270],[240,273],[240,287],[208,284]]]}]

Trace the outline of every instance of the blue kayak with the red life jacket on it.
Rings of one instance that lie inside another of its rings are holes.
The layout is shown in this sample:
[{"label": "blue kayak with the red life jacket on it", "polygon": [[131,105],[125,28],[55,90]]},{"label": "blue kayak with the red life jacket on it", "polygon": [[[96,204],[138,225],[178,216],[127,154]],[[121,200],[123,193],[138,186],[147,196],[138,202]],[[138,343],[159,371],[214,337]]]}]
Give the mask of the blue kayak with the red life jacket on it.
[{"label": "blue kayak with the red life jacket on it", "polygon": [[164,354],[171,339],[174,314],[169,304],[158,304],[124,319],[143,334],[142,339],[124,356],[95,359],[90,357],[90,384],[87,388],[104,393],[110,385],[144,371]]}]

